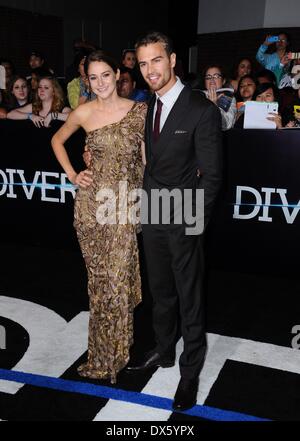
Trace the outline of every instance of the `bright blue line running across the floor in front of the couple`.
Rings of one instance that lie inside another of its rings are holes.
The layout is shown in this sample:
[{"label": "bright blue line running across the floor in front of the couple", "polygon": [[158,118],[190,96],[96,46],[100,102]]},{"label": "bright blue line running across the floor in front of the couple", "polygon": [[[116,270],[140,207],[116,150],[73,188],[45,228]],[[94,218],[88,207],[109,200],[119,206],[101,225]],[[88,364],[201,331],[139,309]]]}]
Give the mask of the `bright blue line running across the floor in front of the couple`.
[{"label": "bright blue line running across the floor in front of the couple", "polygon": [[[147,406],[173,412],[173,400],[139,392],[130,392],[106,386],[98,386],[95,384],[84,383],[80,381],[69,381],[60,378],[33,375],[5,369],[0,369],[0,379],[64,392],[123,401],[126,403],[133,403],[141,406]],[[196,416],[212,421],[270,421],[243,413],[231,412],[228,410],[221,410],[200,405],[196,405],[192,409],[182,413],[184,413],[185,415]]]}]

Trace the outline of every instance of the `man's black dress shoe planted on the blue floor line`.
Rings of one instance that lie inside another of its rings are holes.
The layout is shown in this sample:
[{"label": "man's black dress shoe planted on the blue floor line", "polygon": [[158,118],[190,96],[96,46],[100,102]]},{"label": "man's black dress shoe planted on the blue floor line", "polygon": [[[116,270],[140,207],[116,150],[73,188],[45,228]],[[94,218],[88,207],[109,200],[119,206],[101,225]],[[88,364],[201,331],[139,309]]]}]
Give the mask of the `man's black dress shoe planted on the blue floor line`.
[{"label": "man's black dress shoe planted on the blue floor line", "polygon": [[194,407],[197,403],[198,387],[198,378],[181,378],[174,397],[173,410],[184,411]]}]

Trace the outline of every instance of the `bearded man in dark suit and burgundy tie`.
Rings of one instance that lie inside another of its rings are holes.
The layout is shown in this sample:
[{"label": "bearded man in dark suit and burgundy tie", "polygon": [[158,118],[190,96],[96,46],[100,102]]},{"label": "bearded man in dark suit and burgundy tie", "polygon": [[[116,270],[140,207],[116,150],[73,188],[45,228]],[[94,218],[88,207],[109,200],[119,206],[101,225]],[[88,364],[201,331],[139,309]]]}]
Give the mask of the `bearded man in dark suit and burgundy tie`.
[{"label": "bearded man in dark suit and burgundy tie", "polygon": [[[184,195],[190,190],[195,208],[196,191],[203,189],[206,225],[221,183],[220,112],[175,76],[176,55],[168,37],[152,32],[137,42],[136,51],[142,75],[155,92],[146,120],[144,191],[150,217],[157,209],[151,200],[155,191],[176,189]],[[196,404],[206,354],[203,234],[189,234],[185,220],[181,225],[174,222],[175,205],[171,204],[170,223],[163,220],[161,213],[155,224],[143,219],[156,347],[127,369],[174,365],[179,306],[184,351],[173,408],[186,410]],[[162,208],[166,208],[164,201]],[[182,214],[184,209],[177,206],[176,211]]]}]

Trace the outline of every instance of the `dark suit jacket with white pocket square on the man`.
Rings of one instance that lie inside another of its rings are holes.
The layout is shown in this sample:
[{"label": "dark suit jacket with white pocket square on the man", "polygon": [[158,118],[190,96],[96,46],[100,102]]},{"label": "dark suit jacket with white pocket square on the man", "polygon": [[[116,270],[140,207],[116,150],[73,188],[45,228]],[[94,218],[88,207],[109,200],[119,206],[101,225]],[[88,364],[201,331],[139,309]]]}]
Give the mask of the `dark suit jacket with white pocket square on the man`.
[{"label": "dark suit jacket with white pocket square on the man", "polygon": [[155,101],[156,96],[149,103],[146,119],[144,190],[149,194],[152,189],[162,188],[204,189],[207,224],[222,177],[220,111],[204,96],[185,87],[154,143]]}]

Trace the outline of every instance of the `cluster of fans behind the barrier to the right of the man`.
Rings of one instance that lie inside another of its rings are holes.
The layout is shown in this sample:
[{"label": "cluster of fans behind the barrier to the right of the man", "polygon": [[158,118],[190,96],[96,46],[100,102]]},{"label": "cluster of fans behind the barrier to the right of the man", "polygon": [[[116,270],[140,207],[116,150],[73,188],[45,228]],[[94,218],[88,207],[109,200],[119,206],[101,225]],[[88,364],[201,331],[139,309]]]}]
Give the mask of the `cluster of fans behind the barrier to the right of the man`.
[{"label": "cluster of fans behind the barrier to the right of the man", "polygon": [[295,109],[300,106],[300,59],[291,59],[286,32],[280,32],[276,40],[272,42],[271,35],[265,37],[256,54],[256,71],[255,62],[242,57],[231,78],[221,66],[212,64],[205,69],[202,83],[197,77],[191,80],[194,89],[204,90],[207,98],[219,106],[223,130],[244,127],[247,101],[277,102],[278,113],[268,117],[276,128],[300,127],[300,113]]}]

